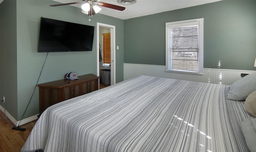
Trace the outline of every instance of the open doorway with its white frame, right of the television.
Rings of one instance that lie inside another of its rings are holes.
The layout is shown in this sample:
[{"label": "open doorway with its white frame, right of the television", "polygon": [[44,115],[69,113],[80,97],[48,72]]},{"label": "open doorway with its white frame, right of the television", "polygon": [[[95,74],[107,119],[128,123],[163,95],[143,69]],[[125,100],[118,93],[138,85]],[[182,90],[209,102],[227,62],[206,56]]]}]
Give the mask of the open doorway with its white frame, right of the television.
[{"label": "open doorway with its white frame, right of the television", "polygon": [[[108,43],[110,47],[106,47]],[[103,49],[104,47],[106,50],[110,49],[110,52]],[[106,86],[116,83],[115,47],[115,26],[97,23],[97,75],[101,77],[100,83]],[[104,59],[107,53],[110,53],[110,61],[105,60],[107,56]]]}]

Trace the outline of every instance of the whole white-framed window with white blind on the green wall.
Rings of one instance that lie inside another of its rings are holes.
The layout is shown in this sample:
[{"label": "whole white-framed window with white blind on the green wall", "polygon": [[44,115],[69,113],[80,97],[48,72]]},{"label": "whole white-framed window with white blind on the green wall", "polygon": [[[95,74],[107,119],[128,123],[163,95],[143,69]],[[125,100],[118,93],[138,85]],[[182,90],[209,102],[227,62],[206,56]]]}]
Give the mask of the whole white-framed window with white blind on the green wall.
[{"label": "whole white-framed window with white blind on the green wall", "polygon": [[166,23],[166,71],[203,74],[203,22]]}]

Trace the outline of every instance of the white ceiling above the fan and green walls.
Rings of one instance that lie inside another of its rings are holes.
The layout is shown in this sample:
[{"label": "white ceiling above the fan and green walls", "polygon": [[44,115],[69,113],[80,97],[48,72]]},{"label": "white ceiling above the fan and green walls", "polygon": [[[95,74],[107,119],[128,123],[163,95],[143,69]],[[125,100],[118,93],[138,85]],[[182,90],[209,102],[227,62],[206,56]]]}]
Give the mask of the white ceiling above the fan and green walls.
[{"label": "white ceiling above the fan and green walls", "polygon": [[[83,2],[82,0],[54,0],[56,4],[70,3],[70,2]],[[112,16],[114,18],[120,18],[122,20],[136,18],[140,16],[146,16],[150,14],[156,14],[160,12],[166,12],[170,10],[177,10],[180,8],[187,8],[191,6],[198,6],[202,4],[217,2],[220,0],[136,0],[135,4],[123,5],[119,4],[118,0],[101,0],[109,4],[123,6],[126,9],[124,11],[113,10],[111,8],[101,7],[100,14]],[[81,8],[82,4],[74,4],[72,6]],[[57,6],[62,7],[62,6]],[[82,9],[81,9],[82,10]],[[82,12],[81,12],[82,13]]]}]

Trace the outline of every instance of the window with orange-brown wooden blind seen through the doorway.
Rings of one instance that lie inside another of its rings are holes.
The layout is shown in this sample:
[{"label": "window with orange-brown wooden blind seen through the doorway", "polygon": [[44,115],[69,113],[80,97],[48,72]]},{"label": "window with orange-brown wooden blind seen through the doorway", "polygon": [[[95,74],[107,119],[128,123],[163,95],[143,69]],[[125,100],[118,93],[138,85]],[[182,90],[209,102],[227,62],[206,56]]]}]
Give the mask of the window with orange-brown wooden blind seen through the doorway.
[{"label": "window with orange-brown wooden blind seen through the doorway", "polygon": [[103,38],[103,65],[110,66],[111,63],[111,47],[110,47],[110,33],[102,34]]}]

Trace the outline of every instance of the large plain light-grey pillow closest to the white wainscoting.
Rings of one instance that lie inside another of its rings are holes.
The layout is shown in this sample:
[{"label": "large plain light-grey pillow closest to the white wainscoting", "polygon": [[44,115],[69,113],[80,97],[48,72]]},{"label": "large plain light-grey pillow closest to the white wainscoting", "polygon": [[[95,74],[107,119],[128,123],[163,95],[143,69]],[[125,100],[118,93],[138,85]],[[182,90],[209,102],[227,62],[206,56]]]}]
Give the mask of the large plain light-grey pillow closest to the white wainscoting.
[{"label": "large plain light-grey pillow closest to the white wainscoting", "polygon": [[256,73],[246,75],[230,86],[227,99],[242,101],[256,91]]}]

